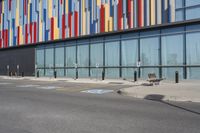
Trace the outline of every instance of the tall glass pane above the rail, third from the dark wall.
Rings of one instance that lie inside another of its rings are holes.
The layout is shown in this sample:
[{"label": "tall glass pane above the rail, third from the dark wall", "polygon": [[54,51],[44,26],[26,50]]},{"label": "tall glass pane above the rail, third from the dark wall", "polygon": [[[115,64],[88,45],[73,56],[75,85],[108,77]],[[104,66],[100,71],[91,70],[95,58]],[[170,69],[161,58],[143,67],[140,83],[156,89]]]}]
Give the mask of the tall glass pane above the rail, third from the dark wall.
[{"label": "tall glass pane above the rail, third from the dark wall", "polygon": [[55,67],[64,67],[64,47],[55,48]]}]

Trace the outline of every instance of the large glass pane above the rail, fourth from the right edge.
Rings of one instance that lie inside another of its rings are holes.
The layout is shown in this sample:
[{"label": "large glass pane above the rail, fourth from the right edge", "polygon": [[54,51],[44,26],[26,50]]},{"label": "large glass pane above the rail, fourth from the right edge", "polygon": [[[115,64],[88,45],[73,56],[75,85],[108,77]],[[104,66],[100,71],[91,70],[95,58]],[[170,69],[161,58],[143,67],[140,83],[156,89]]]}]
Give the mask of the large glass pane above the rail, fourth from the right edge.
[{"label": "large glass pane above the rail, fourth from the right edge", "polygon": [[122,40],[122,66],[136,66],[138,61],[138,40]]}]

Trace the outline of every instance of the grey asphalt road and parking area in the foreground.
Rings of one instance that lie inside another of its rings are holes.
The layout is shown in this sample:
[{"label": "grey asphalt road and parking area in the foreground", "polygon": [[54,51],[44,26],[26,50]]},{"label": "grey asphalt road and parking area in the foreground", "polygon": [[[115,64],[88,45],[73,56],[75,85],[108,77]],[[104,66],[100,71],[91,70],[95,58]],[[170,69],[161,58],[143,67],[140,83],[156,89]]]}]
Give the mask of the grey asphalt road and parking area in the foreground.
[{"label": "grey asphalt road and parking area in the foreground", "polygon": [[134,99],[122,87],[0,79],[0,133],[200,132],[199,103]]}]

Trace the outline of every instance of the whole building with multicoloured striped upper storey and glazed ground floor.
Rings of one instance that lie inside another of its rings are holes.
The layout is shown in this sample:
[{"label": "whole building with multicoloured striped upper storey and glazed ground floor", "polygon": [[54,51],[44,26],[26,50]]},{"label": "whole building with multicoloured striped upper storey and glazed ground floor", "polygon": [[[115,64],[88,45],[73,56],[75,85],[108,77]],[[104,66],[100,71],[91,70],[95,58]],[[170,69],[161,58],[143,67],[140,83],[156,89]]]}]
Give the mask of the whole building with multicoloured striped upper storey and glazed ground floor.
[{"label": "whole building with multicoloured striped upper storey and glazed ground floor", "polygon": [[2,0],[0,74],[200,79],[199,0]]}]

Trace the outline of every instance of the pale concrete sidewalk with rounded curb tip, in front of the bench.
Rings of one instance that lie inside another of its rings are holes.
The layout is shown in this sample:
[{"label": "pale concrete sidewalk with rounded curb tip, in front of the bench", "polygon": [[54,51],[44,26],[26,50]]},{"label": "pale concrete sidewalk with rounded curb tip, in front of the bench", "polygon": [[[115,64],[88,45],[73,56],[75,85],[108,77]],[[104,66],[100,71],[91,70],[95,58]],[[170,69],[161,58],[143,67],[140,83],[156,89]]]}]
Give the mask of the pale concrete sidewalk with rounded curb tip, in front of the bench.
[{"label": "pale concrete sidewalk with rounded curb tip, in front of the bench", "polygon": [[164,81],[160,85],[135,85],[120,90],[123,95],[148,100],[200,102],[200,81],[185,80],[178,84]]}]

